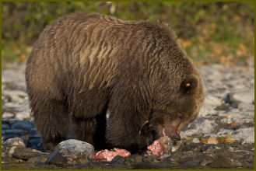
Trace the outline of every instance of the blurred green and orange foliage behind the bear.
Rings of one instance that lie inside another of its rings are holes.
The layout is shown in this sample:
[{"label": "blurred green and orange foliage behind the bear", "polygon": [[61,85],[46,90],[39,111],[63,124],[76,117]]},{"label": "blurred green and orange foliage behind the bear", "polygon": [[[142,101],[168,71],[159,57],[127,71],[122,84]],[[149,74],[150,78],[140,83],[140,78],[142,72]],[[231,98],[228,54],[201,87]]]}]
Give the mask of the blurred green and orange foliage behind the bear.
[{"label": "blurred green and orange foliage behind the bear", "polygon": [[254,63],[253,2],[2,2],[2,68],[26,62],[47,24],[70,12],[161,20],[196,65]]}]

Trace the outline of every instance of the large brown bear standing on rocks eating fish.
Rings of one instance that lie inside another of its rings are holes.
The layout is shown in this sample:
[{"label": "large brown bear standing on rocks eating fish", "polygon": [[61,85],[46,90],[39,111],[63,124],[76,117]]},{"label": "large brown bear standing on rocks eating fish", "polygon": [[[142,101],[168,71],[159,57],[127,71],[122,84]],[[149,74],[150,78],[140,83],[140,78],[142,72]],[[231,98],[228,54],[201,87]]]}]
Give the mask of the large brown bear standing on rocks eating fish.
[{"label": "large brown bear standing on rocks eating fish", "polygon": [[47,150],[72,127],[96,149],[107,142],[136,152],[156,133],[178,141],[205,98],[195,65],[168,26],[84,12],[57,19],[40,34],[26,86]]}]

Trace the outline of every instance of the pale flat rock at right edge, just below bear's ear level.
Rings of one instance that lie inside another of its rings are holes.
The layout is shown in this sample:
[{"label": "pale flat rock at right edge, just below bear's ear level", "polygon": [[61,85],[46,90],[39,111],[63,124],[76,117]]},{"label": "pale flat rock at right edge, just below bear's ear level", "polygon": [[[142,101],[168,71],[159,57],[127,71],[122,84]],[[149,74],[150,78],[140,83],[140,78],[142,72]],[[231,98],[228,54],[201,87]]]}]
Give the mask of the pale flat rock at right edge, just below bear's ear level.
[{"label": "pale flat rock at right edge, just below bear's ear level", "polygon": [[240,92],[231,92],[230,93],[230,102],[231,103],[253,103],[254,102],[254,89],[249,89],[246,91]]}]

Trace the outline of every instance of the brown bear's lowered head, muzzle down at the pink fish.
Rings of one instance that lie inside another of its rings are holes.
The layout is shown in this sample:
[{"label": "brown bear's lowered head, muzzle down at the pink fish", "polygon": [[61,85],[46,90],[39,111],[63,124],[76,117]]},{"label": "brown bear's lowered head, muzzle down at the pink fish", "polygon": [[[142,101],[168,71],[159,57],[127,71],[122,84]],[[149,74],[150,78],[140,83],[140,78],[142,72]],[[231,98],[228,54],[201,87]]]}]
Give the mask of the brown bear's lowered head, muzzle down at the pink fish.
[{"label": "brown bear's lowered head, muzzle down at the pink fish", "polygon": [[[149,125],[160,136],[168,136],[176,144],[181,140],[180,132],[196,117],[205,99],[202,79],[195,66],[188,58],[183,58],[183,65],[170,70],[170,74],[162,76],[155,87]],[[176,68],[176,69],[175,69]],[[178,72],[174,72],[177,71]],[[168,78],[168,79],[167,79]]]}]

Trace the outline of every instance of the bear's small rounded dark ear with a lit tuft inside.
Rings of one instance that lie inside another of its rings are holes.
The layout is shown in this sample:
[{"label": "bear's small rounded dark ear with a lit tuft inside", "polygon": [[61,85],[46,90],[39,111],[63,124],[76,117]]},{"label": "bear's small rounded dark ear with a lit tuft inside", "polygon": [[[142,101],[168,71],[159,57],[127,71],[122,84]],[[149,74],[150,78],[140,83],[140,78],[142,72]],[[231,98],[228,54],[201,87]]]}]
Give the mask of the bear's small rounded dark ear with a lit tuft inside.
[{"label": "bear's small rounded dark ear with a lit tuft inside", "polygon": [[181,92],[183,93],[194,92],[197,86],[198,86],[198,79],[196,79],[194,76],[190,76],[187,79],[184,79],[183,82],[181,82]]}]

